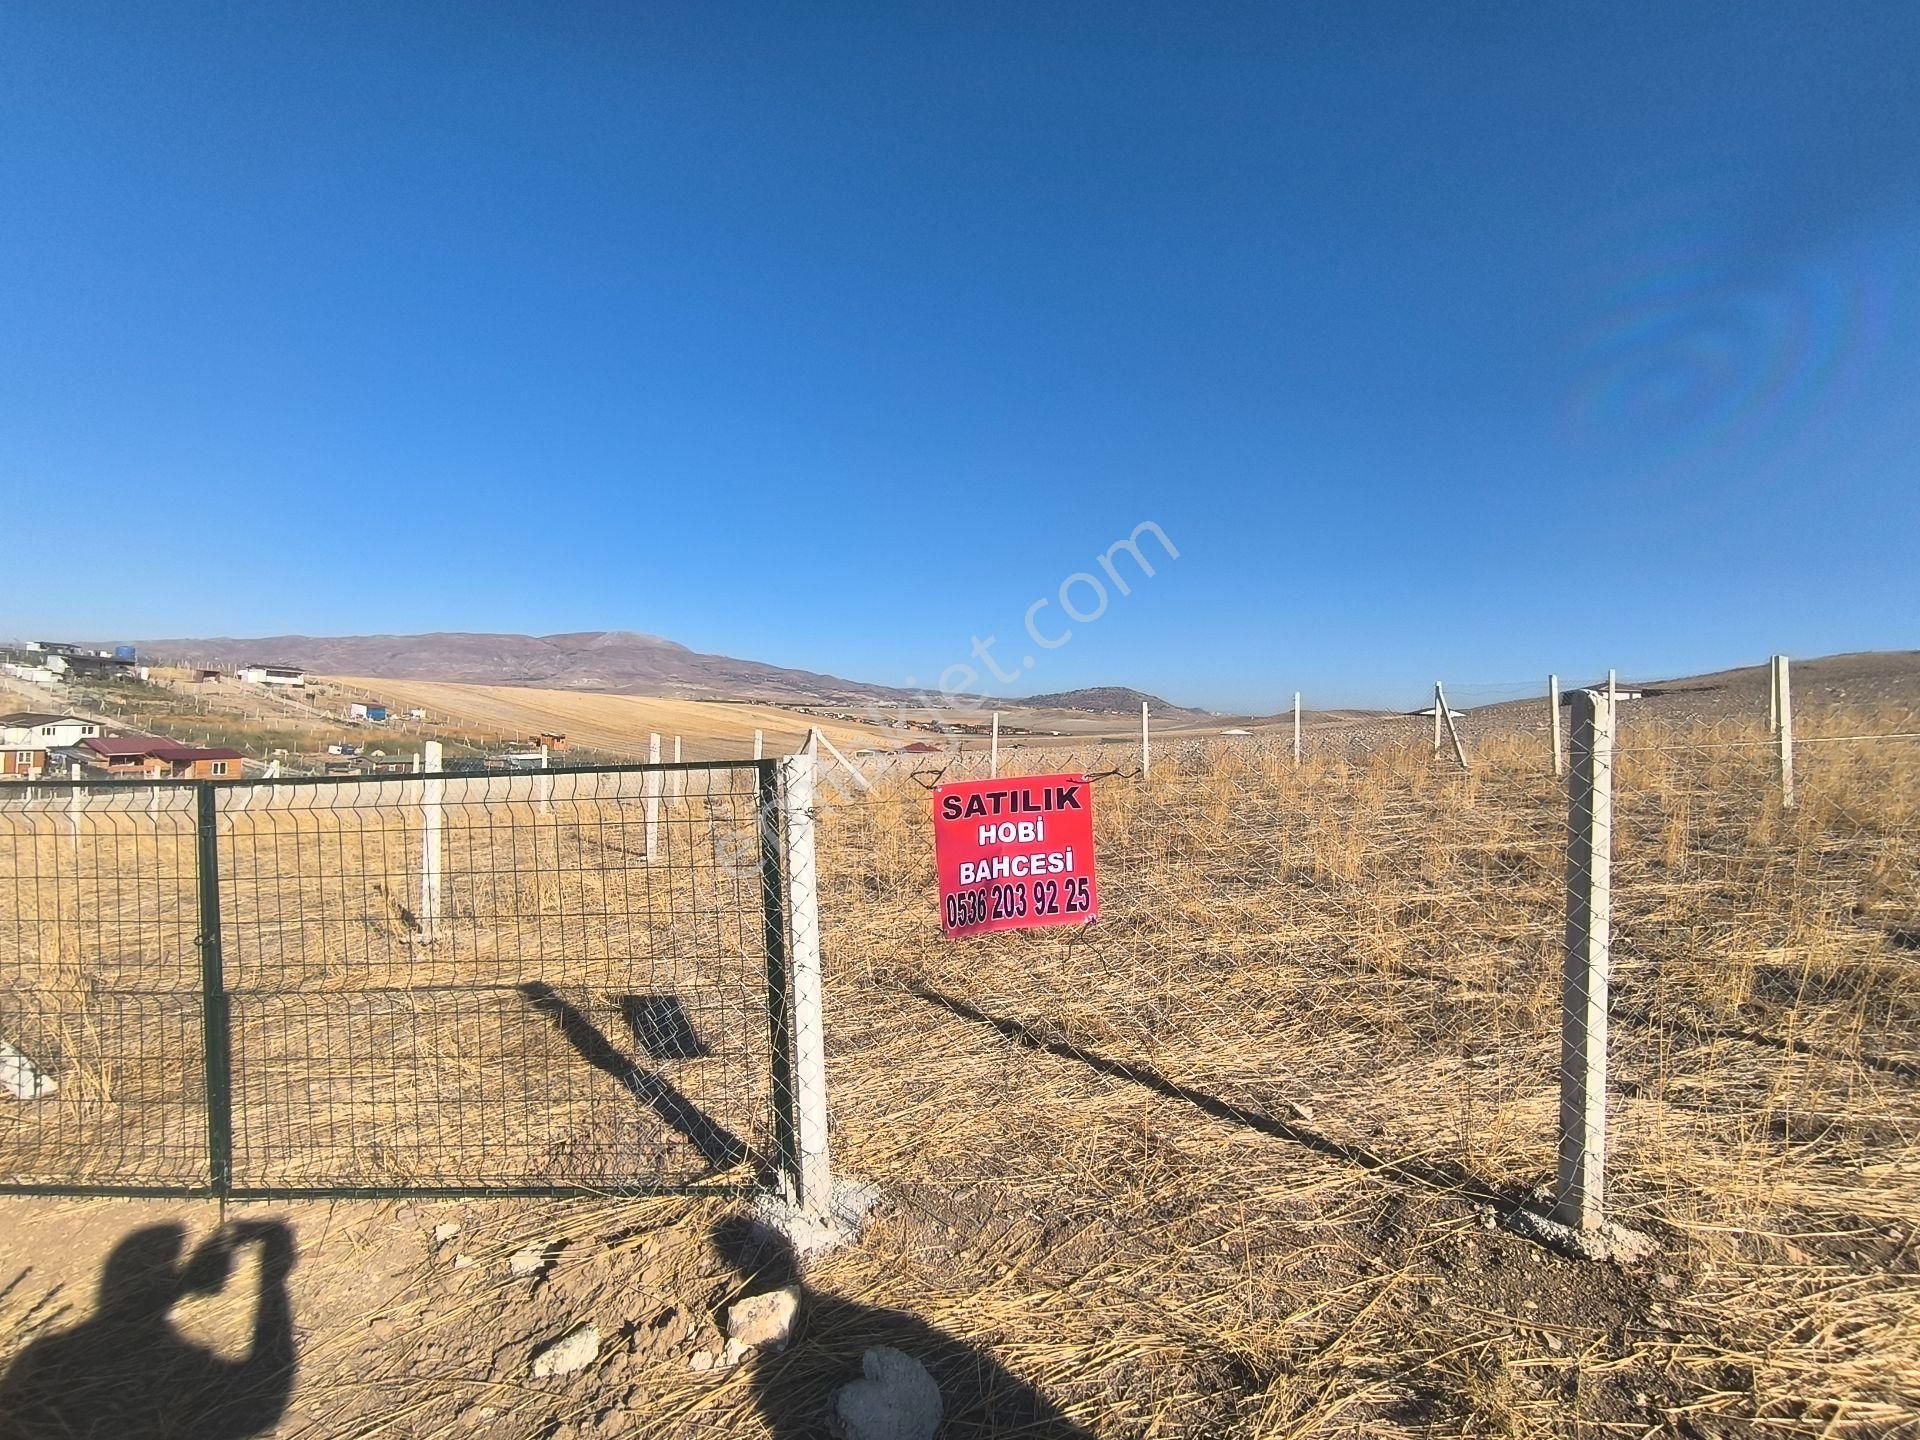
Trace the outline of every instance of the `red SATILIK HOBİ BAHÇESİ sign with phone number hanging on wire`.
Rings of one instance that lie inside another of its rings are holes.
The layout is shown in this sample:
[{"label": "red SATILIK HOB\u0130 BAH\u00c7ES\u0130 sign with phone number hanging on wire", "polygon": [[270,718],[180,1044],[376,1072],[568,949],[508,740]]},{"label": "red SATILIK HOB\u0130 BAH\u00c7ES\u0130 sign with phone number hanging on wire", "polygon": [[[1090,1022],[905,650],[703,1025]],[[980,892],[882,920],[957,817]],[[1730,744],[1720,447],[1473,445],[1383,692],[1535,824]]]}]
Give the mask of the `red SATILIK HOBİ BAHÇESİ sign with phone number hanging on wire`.
[{"label": "red SATILIK HOB\u0130 BAH\u00c7ES\u0130 sign with phone number hanging on wire", "polygon": [[1087,776],[968,780],[933,791],[941,929],[1085,925],[1100,914]]}]

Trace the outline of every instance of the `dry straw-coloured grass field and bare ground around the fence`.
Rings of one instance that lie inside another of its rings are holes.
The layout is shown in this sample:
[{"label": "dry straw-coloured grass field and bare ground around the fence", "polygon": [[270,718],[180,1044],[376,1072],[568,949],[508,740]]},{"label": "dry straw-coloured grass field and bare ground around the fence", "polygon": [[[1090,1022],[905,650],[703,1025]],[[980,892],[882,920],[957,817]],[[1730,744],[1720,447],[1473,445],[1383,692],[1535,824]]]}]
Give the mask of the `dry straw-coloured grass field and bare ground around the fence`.
[{"label": "dry straw-coloured grass field and bare ground around the fence", "polygon": [[[929,797],[899,776],[820,810],[835,1164],[887,1208],[808,1267],[799,1342],[699,1367],[720,1309],[776,1263],[728,1242],[720,1198],[248,1206],[300,1250],[300,1377],[271,1432],[803,1436],[876,1342],[929,1363],[948,1436],[1914,1432],[1914,730],[1895,708],[1805,714],[1784,810],[1763,726],[1622,722],[1611,1206],[1657,1240],[1645,1265],[1500,1223],[1553,1169],[1565,797],[1540,737],[1478,737],[1471,774],[1419,741],[1329,745],[1298,770],[1261,743],[1169,747],[1146,780],[1110,764],[1100,922],[958,945],[935,925]],[[463,835],[449,822],[434,945],[415,939],[411,803],[232,818],[253,889],[228,950],[282,996],[248,1031],[242,1104],[276,1119],[242,1133],[303,1179],[449,1158],[468,1179],[737,1175],[687,1137],[705,1116],[766,1144],[732,1092],[764,1085],[755,897],[728,889],[716,841],[747,820],[676,804],[657,868],[626,795],[476,804]],[[60,912],[88,916],[54,933],[92,950],[48,941],[13,883],[0,1025],[65,987],[81,998],[56,1050],[100,1052],[86,1027],[115,973],[131,989],[159,952],[190,964],[190,900],[152,899],[190,870],[154,841],[146,868],[88,874],[61,858],[63,816],[31,822],[31,851],[21,824],[33,906],[81,906],[46,899],[73,870],[117,908]],[[323,858],[336,879],[298,883]],[[682,996],[710,1054],[649,1052],[634,995]],[[148,1062],[192,1054],[184,1021],[138,1033]],[[380,1064],[340,1073],[340,1048]],[[0,1158],[29,1127],[38,1158],[173,1154],[138,1116],[111,1144],[86,1125],[142,1083],[144,1116],[175,1114],[190,1073],[81,1066],[69,1089],[50,1064],[60,1096],[0,1102]],[[684,1106],[636,1089],[636,1066]],[[31,1119],[50,1104],[60,1125]],[[165,1217],[215,1219],[6,1202],[0,1363],[84,1313],[75,1290],[113,1238]],[[532,1281],[507,1265],[526,1246],[547,1258]],[[182,1325],[244,1344],[234,1306],[194,1298]],[[601,1361],[528,1379],[530,1352],[584,1321]]]}]

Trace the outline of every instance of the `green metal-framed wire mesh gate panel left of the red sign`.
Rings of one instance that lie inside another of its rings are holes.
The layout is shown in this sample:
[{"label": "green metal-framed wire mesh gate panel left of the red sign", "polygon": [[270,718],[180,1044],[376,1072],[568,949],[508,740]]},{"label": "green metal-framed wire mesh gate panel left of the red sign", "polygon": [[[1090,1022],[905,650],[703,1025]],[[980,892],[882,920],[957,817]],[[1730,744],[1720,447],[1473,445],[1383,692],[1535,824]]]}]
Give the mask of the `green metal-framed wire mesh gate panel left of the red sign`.
[{"label": "green metal-framed wire mesh gate panel left of the red sign", "polygon": [[0,804],[0,1179],[758,1187],[770,764],[35,787]]}]

